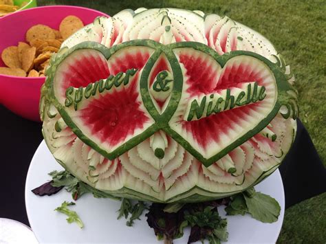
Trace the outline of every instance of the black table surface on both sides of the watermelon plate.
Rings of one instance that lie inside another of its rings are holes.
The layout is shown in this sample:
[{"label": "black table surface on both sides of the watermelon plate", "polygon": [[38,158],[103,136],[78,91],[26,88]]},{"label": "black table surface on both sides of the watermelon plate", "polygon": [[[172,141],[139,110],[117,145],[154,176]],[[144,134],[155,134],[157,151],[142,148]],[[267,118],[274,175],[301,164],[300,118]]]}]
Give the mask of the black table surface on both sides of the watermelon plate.
[{"label": "black table surface on both sides of the watermelon plate", "polygon": [[[0,105],[0,218],[29,225],[25,210],[25,179],[31,159],[43,140],[41,123],[25,120]],[[46,162],[44,162],[46,164]],[[306,129],[298,121],[296,140],[279,167],[285,207],[326,192],[326,170]]]}]

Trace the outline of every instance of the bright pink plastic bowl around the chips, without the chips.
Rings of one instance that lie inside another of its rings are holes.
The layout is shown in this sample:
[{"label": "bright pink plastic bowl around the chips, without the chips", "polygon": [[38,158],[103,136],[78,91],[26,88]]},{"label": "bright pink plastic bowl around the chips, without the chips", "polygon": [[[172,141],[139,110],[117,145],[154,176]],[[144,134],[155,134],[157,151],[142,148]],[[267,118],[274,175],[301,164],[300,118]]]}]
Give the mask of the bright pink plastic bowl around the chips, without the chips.
[{"label": "bright pink plastic bowl around the chips, without the chips", "polygon": [[[0,19],[0,54],[8,46],[25,41],[25,33],[32,25],[48,25],[56,30],[68,15],[78,16],[85,25],[97,16],[108,16],[89,8],[74,6],[46,6],[14,12]],[[5,66],[0,58],[0,66]],[[39,100],[45,78],[21,78],[0,74],[0,104],[28,120],[40,121]]]}]

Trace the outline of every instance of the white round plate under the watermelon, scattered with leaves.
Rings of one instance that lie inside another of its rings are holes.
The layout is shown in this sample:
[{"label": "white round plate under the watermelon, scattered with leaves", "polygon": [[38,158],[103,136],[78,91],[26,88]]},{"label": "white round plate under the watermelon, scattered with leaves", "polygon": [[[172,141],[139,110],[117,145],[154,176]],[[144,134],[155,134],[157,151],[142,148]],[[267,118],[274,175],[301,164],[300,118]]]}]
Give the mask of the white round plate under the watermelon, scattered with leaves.
[{"label": "white round plate under the watermelon, scattered with leaves", "polygon": [[[43,141],[34,154],[25,186],[28,219],[41,243],[159,243],[153,229],[147,225],[146,217],[142,216],[142,221],[135,221],[131,228],[127,227],[125,219],[117,220],[120,202],[111,199],[96,199],[92,195],[84,195],[71,209],[79,214],[85,227],[80,229],[76,223],[67,223],[66,216],[54,209],[61,206],[63,201],[72,201],[68,192],[61,190],[51,197],[38,197],[31,192],[50,179],[47,173],[52,170],[62,168]],[[228,216],[228,243],[275,243],[279,236],[285,204],[279,170],[255,188],[279,201],[279,220],[275,223],[261,223],[249,215]],[[219,214],[225,217],[224,206],[219,208]],[[186,243],[189,233],[189,229],[186,230],[184,237],[174,243]]]}]

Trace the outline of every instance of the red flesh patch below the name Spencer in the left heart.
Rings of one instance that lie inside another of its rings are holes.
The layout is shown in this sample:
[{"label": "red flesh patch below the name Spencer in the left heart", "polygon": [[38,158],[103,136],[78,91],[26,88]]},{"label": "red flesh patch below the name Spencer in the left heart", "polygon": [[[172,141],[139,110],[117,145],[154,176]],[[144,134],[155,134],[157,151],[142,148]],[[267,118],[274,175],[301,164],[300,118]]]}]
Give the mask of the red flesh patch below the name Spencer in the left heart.
[{"label": "red flesh patch below the name Spencer in the left heart", "polygon": [[140,109],[140,102],[137,102],[137,82],[138,74],[126,89],[93,99],[85,109],[77,111],[83,125],[91,128],[91,134],[98,137],[101,143],[116,146],[127,135],[133,135],[136,129],[143,129],[143,124],[149,122]]}]

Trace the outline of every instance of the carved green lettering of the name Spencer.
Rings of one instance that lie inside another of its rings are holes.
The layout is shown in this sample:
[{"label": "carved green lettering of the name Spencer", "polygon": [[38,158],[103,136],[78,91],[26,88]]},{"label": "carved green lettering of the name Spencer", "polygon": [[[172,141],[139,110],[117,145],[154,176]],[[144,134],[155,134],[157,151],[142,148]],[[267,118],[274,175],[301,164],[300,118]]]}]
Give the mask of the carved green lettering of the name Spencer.
[{"label": "carved green lettering of the name Spencer", "polygon": [[94,83],[89,83],[87,87],[68,87],[65,91],[65,107],[70,107],[74,104],[74,109],[77,111],[78,103],[83,99],[88,99],[91,96],[96,96],[97,93],[109,91],[113,86],[120,87],[120,85],[127,86],[131,78],[135,75],[138,69],[127,69],[127,71],[119,72],[116,76],[109,76],[105,80],[98,80]]}]

